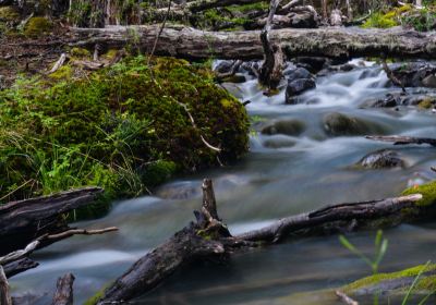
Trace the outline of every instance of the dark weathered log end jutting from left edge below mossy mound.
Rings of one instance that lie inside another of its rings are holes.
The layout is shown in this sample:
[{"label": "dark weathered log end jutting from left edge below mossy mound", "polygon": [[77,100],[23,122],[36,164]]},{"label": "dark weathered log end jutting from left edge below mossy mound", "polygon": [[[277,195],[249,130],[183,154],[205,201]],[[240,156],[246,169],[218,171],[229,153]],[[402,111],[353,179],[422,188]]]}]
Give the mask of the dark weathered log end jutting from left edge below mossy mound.
[{"label": "dark weathered log end jutting from left edge below mossy mound", "polygon": [[0,206],[0,255],[24,248],[40,236],[70,230],[63,215],[93,203],[101,192],[87,187]]}]

